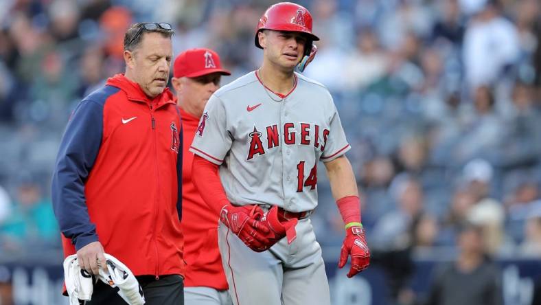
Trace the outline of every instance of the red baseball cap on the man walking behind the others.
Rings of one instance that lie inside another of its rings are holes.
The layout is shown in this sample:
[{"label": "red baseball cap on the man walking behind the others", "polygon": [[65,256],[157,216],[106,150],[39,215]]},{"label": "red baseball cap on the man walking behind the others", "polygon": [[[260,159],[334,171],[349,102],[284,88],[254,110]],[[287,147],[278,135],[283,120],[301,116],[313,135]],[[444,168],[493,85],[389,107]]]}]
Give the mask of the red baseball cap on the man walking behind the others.
[{"label": "red baseball cap on the man walking behind the others", "polygon": [[231,75],[231,72],[222,69],[220,56],[211,49],[198,48],[182,52],[174,60],[173,76],[175,78],[196,78],[211,73]]}]

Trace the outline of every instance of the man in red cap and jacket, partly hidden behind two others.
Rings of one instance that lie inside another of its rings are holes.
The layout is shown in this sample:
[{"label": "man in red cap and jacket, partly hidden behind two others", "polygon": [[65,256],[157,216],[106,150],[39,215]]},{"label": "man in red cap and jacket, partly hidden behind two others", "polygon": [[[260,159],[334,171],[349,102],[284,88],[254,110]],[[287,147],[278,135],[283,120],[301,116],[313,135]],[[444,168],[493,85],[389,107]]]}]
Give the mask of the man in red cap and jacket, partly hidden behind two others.
[{"label": "man in red cap and jacket, partly hidden behind two others", "polygon": [[186,304],[227,305],[231,297],[218,250],[218,218],[192,183],[194,154],[188,151],[205,104],[220,87],[222,69],[211,49],[189,49],[174,61],[171,83],[177,93],[183,129],[183,221]]}]

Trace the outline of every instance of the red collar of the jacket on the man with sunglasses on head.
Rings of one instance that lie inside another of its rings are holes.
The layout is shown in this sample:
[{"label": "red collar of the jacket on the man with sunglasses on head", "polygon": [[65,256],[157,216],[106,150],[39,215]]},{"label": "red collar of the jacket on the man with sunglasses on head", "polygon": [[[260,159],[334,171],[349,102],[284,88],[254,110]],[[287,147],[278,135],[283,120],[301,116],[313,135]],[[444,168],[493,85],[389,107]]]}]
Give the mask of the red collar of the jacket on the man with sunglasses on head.
[{"label": "red collar of the jacket on the man with sunglasses on head", "polygon": [[134,102],[146,102],[147,104],[155,104],[156,108],[163,106],[164,104],[175,104],[173,93],[169,88],[163,89],[163,92],[157,95],[155,98],[150,99],[141,89],[137,82],[133,82],[126,78],[124,74],[116,74],[115,76],[108,78],[106,84],[117,87],[124,91],[128,96],[128,100]]}]

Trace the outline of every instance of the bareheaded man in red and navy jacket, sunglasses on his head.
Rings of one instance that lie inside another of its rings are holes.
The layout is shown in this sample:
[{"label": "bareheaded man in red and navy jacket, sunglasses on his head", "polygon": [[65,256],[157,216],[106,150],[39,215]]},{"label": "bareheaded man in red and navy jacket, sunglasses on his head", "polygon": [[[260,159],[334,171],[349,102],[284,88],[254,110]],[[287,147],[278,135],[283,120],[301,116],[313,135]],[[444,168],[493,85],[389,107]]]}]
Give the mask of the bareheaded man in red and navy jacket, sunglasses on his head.
[{"label": "bareheaded man in red and navy jacket, sunglasses on his head", "polygon": [[[52,181],[65,256],[105,269],[104,253],[141,284],[146,304],[183,304],[181,118],[166,88],[168,23],[135,23],[124,36],[126,73],[82,100],[60,143]],[[98,281],[87,304],[125,304]]]}]

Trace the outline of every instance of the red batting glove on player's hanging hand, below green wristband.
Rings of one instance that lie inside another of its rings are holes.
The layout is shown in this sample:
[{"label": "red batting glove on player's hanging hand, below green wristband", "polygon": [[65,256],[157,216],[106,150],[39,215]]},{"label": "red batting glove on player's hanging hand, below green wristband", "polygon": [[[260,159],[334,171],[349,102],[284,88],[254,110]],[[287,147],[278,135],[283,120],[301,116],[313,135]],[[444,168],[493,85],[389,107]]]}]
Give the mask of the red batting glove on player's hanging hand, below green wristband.
[{"label": "red batting glove on player's hanging hand, below green wristband", "polygon": [[[349,225],[351,225],[349,227]],[[352,268],[347,273],[348,278],[368,268],[370,264],[370,249],[365,238],[365,230],[360,223],[348,223],[346,235],[340,252],[338,268],[345,266],[347,256],[352,256]]]}]

